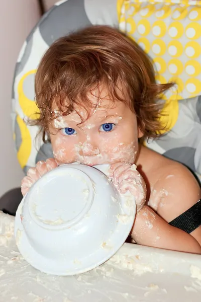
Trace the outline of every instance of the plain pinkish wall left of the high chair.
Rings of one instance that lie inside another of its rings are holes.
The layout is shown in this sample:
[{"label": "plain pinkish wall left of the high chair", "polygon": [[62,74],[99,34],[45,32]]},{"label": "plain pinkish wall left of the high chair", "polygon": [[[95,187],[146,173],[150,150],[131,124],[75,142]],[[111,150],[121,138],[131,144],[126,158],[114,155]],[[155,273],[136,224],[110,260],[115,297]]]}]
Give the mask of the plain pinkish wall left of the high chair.
[{"label": "plain pinkish wall left of the high chair", "polygon": [[0,196],[20,186],[11,123],[11,91],[15,63],[27,35],[40,19],[38,0],[4,0],[0,10]]}]

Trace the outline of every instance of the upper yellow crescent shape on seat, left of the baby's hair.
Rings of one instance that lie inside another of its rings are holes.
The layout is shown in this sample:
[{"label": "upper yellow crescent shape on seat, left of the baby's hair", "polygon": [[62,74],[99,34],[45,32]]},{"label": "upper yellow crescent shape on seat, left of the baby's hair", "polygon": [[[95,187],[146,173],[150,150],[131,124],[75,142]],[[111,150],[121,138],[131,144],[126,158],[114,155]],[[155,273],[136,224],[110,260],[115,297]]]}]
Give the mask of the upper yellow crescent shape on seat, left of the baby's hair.
[{"label": "upper yellow crescent shape on seat, left of the baby's hair", "polygon": [[23,83],[29,74],[36,73],[36,70],[31,70],[23,75],[18,85],[18,96],[19,96],[19,104],[23,110],[25,116],[28,116],[31,119],[36,119],[40,110],[36,106],[36,103],[33,100],[30,100],[26,97],[23,91]]}]

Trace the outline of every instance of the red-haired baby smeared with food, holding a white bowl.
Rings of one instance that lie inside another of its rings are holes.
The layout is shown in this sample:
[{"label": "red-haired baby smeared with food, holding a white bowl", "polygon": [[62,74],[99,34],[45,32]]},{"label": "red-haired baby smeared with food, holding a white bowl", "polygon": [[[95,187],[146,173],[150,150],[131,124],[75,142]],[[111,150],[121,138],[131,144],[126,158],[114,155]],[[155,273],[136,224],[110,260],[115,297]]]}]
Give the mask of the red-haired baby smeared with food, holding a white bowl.
[{"label": "red-haired baby smeared with food, holding a white bowl", "polygon": [[58,165],[109,164],[119,191],[136,198],[133,241],[200,254],[199,223],[190,232],[170,223],[198,204],[198,183],[184,166],[139,142],[162,130],[160,98],[171,86],[156,84],[147,55],[116,29],[93,26],[57,40],[35,80],[36,123],[43,140],[51,141],[54,159],[28,171],[23,195]]}]

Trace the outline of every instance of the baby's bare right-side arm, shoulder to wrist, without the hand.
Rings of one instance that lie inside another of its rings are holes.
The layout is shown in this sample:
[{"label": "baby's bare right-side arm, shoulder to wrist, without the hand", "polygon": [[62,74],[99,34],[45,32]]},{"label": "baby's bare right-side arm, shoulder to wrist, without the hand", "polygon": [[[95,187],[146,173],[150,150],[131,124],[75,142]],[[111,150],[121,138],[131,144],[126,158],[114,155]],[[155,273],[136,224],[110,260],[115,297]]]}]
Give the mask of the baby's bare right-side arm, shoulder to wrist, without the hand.
[{"label": "baby's bare right-side arm, shoulder to wrist, without the hand", "polygon": [[144,206],[136,216],[132,238],[142,245],[201,254],[201,226],[189,235],[168,224],[200,197],[201,190],[191,173],[176,165],[171,176],[160,177],[153,187],[151,204],[154,205],[154,198],[160,198],[156,212]]}]

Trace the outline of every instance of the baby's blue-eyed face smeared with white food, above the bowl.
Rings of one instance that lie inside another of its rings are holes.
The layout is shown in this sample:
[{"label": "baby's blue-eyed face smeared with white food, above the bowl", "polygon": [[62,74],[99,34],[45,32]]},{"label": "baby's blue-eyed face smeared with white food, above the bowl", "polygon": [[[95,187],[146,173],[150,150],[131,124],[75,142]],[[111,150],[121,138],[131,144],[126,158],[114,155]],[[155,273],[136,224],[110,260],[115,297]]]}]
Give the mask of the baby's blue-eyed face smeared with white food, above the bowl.
[{"label": "baby's blue-eyed face smeared with white food, above the bowl", "polygon": [[[59,165],[81,163],[89,166],[127,162],[133,164],[138,150],[139,131],[135,114],[123,102],[113,102],[100,95],[101,102],[92,108],[82,124],[72,112],[59,115],[49,126],[55,160]],[[90,98],[96,104],[95,97]],[[56,108],[52,108],[53,110]],[[87,113],[75,108],[83,120]]]}]

